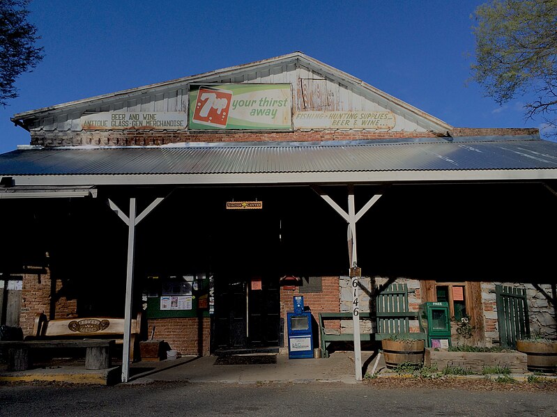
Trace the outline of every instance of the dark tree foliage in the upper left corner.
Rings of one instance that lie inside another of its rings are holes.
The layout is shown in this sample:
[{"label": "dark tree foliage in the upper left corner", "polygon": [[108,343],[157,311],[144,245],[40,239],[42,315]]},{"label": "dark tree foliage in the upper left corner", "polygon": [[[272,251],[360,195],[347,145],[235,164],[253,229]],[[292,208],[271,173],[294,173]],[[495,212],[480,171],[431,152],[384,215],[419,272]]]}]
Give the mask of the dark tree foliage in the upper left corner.
[{"label": "dark tree foliage in the upper left corner", "polygon": [[17,97],[15,79],[43,59],[37,29],[27,22],[29,0],[0,0],[0,105]]}]

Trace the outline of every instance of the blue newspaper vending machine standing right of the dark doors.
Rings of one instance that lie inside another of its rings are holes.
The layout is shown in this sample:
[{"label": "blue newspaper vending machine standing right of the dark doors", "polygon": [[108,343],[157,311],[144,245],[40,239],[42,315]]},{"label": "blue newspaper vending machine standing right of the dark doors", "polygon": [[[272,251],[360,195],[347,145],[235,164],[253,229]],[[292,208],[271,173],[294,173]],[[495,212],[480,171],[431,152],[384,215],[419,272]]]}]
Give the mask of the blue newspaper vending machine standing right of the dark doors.
[{"label": "blue newspaper vending machine standing right of the dark doors", "polygon": [[304,297],[294,296],[294,312],[287,313],[288,359],[313,358],[312,313],[304,311]]}]

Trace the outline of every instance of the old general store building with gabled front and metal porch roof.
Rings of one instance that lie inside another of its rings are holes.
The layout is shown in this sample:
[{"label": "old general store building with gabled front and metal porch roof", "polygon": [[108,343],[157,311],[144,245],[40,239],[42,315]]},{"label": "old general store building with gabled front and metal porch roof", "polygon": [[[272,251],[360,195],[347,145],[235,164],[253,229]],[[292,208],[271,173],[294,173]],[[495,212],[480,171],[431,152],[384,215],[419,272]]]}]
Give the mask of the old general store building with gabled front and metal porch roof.
[{"label": "old general store building with gabled front and metal porch roof", "polygon": [[531,331],[557,336],[557,143],[537,129],[453,127],[300,52],[13,122],[2,321],[24,334],[43,311],[144,310],[183,354],[277,350],[293,295],[351,311],[361,275],[362,311],[406,283],[476,345],[500,343],[496,285],[524,288]]}]

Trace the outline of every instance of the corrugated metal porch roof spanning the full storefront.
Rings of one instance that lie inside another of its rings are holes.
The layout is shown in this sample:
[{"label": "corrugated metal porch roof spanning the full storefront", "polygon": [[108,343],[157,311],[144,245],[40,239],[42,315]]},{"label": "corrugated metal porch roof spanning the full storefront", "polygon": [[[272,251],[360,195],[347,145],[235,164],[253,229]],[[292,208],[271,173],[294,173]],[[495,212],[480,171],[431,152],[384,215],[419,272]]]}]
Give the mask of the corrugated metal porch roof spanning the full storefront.
[{"label": "corrugated metal porch roof spanning the full storefront", "polygon": [[[0,155],[2,176],[287,175],[304,173],[556,170],[557,143],[537,136],[324,143],[219,143],[121,148],[42,148]],[[464,175],[464,176],[463,176]],[[553,174],[551,174],[553,175]],[[408,177],[408,175],[406,175]],[[466,174],[461,175],[466,178]],[[528,178],[535,178],[530,173]],[[297,178],[296,175],[289,175]],[[303,178],[303,175],[300,176]],[[328,178],[333,178],[328,175]],[[340,177],[339,177],[340,178]],[[342,176],[343,180],[347,177]],[[396,180],[383,175],[383,180]],[[516,177],[513,177],[516,179]],[[545,176],[547,178],[547,175]],[[300,180],[303,181],[303,180]],[[167,181],[171,183],[171,180]],[[70,183],[70,179],[66,183]]]}]

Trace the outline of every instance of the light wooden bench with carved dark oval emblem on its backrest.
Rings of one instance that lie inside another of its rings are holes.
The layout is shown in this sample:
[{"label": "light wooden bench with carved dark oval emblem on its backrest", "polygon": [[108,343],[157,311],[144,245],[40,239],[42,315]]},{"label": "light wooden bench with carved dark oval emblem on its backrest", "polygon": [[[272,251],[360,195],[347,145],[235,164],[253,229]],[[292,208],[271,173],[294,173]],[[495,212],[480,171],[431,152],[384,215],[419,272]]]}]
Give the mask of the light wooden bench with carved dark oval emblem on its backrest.
[{"label": "light wooden bench with carved dark oval emblem on its backrest", "polygon": [[[130,361],[135,359],[142,328],[142,312],[132,320],[130,331]],[[31,340],[115,340],[116,345],[123,345],[124,319],[115,317],[76,317],[68,319],[47,320],[44,313],[38,313],[33,326],[33,333],[25,337]],[[55,344],[54,344],[55,346]],[[45,347],[51,347],[45,344]]]}]

